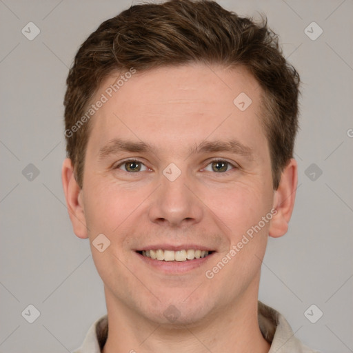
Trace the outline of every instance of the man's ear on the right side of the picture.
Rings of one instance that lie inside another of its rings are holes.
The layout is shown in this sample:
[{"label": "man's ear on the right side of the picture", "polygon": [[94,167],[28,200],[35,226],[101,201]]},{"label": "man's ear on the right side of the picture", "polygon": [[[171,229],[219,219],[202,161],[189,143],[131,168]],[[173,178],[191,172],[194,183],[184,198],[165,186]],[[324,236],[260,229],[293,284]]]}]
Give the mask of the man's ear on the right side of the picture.
[{"label": "man's ear on the right side of the picture", "polygon": [[274,192],[273,208],[277,210],[272,217],[269,235],[278,238],[288,231],[288,223],[292,216],[298,183],[298,165],[295,159],[290,159],[281,174],[279,188]]}]

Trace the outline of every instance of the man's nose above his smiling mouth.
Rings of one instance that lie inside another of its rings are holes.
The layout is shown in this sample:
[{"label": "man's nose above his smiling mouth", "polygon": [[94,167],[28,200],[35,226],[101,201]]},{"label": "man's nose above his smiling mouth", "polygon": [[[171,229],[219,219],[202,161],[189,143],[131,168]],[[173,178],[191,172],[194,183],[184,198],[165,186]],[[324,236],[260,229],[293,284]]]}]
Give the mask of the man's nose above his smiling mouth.
[{"label": "man's nose above his smiling mouth", "polygon": [[174,181],[161,175],[161,186],[152,195],[148,216],[152,223],[174,228],[201,221],[202,202],[194,193],[192,182],[185,174],[182,173]]}]

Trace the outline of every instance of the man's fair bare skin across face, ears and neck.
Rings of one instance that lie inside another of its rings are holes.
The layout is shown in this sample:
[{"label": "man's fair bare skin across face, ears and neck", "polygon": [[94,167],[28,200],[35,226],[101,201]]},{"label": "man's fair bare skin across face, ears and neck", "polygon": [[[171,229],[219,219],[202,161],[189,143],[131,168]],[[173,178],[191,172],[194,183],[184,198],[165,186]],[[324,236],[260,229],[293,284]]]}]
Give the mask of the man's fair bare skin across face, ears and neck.
[{"label": "man's fair bare skin across face, ears and neck", "polygon": [[[93,101],[116,80],[106,79]],[[252,99],[243,112],[233,103],[241,92]],[[289,161],[273,190],[260,94],[243,68],[194,63],[137,72],[91,118],[82,189],[65,159],[63,189],[74,233],[90,239],[104,283],[109,321],[104,353],[270,349],[257,319],[261,260],[268,236],[288,230],[297,165]],[[99,150],[114,138],[157,150],[100,159]],[[202,141],[228,139],[248,146],[252,155],[190,154]],[[126,171],[125,159],[139,160],[143,164],[134,169],[141,170]],[[213,159],[231,164],[217,172]],[[170,163],[181,171],[175,181],[163,174]],[[277,211],[272,220],[208,279],[205,271],[272,208]],[[110,240],[104,252],[92,245],[98,234]],[[202,244],[214,253],[193,270],[164,272],[135,252],[157,243]],[[174,322],[163,315],[170,305],[178,312]]]}]

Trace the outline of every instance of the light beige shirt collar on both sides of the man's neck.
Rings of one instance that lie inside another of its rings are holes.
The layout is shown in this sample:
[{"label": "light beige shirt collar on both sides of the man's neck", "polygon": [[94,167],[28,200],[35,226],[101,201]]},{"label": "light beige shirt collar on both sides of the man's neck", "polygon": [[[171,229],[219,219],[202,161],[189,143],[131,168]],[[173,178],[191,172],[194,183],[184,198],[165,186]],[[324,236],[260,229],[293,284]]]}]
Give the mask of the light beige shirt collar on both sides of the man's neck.
[{"label": "light beige shirt collar on both sides of the man's neck", "polygon": [[[276,310],[259,301],[259,326],[263,338],[271,343],[268,353],[319,353],[296,339],[290,324]],[[83,344],[74,353],[101,353],[108,337],[108,315],[92,324]]]}]

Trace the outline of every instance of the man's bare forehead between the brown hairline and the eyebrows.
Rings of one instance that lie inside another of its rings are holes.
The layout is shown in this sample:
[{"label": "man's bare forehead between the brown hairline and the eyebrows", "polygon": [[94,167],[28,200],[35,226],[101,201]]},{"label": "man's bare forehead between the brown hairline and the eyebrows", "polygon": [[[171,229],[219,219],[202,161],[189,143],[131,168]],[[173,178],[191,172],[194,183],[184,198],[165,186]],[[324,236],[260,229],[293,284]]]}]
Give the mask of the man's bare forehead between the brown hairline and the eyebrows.
[{"label": "man's bare forehead between the brown hairline and the eyebrows", "polygon": [[212,138],[263,139],[261,88],[243,68],[192,64],[119,72],[103,81],[93,102],[100,97],[105,103],[90,121],[88,143],[96,148],[124,136],[162,148],[178,141],[187,148]]}]

